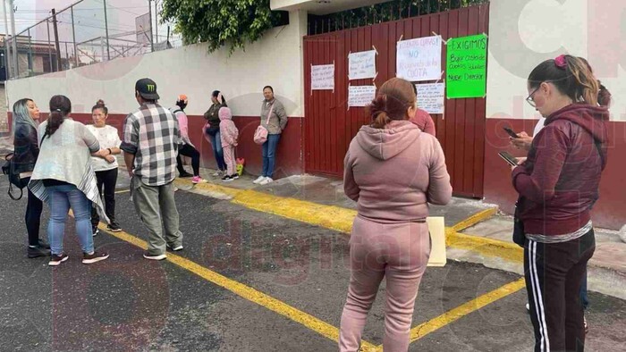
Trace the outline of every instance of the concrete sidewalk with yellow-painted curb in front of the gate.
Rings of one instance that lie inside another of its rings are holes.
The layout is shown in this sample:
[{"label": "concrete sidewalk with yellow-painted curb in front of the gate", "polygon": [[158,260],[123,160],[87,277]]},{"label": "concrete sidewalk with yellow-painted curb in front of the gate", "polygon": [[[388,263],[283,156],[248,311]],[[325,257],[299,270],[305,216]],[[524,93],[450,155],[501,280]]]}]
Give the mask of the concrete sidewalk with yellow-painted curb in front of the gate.
[{"label": "concrete sidewalk with yellow-painted curb in front of the gate", "polygon": [[[351,216],[356,214],[356,203],[343,194],[341,180],[301,175],[258,186],[252,183],[255,177],[250,175],[244,174],[239,180],[223,182],[212,176],[213,172],[201,170],[201,175],[208,181],[205,186],[194,186],[190,180],[185,179],[178,179],[177,186],[211,197],[237,197],[239,203],[245,203],[246,191],[253,191],[266,194],[268,202],[272,202],[271,199],[295,199],[327,205],[332,207],[328,208],[328,212],[333,214],[328,217],[336,217],[333,219],[336,220],[335,224],[326,224],[327,220],[319,220],[317,224],[345,233],[350,232]],[[271,203],[258,205],[258,210],[272,207]],[[338,214],[337,209],[344,209],[346,212]],[[271,210],[267,211],[272,213]],[[432,205],[430,214],[445,217],[449,259],[523,274],[522,249],[512,243],[512,217],[498,212],[496,205],[454,197],[449,205]],[[589,262],[588,288],[626,299],[626,243],[620,240],[616,231],[596,229],[596,253]]]}]

